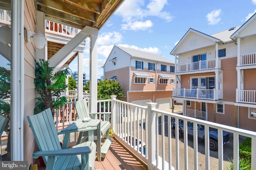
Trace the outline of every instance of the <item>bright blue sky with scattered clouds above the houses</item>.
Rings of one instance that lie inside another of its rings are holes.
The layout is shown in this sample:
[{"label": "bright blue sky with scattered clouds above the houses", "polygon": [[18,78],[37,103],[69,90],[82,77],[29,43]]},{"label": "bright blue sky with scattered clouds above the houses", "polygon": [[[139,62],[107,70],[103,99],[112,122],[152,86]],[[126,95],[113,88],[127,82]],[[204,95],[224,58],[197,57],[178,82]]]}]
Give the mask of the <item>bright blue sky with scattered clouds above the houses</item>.
[{"label": "bright blue sky with scattered clouds above the houses", "polygon": [[[125,0],[99,31],[98,78],[114,45],[174,61],[170,52],[190,27],[211,35],[242,25],[255,12],[256,0]],[[86,41],[83,70],[89,79],[90,40]],[[70,68],[77,70],[77,59]]]}]

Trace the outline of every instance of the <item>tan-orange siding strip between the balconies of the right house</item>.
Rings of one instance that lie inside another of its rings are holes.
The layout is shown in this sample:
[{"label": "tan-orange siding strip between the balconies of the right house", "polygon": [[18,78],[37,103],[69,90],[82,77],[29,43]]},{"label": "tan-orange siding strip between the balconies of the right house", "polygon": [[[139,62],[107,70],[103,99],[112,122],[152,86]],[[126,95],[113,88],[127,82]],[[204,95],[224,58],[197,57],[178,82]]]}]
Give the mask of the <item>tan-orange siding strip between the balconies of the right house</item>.
[{"label": "tan-orange siding strip between the balconies of the right house", "polygon": [[223,100],[226,102],[236,102],[236,63],[236,57],[221,61],[221,68],[223,69]]}]

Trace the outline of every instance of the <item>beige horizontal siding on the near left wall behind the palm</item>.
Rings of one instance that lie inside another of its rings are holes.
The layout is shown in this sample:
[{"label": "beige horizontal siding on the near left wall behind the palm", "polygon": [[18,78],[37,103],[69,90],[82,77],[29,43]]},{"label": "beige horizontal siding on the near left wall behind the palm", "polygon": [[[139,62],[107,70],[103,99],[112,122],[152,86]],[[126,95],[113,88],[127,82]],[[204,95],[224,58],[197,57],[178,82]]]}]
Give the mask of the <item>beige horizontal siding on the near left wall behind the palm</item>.
[{"label": "beige horizontal siding on the near left wall behind the palm", "polygon": [[[44,21],[42,21],[44,22]],[[33,0],[24,1],[24,27],[35,31],[36,8]],[[32,43],[24,43],[24,160],[28,164],[33,163],[32,154],[36,142],[31,128],[28,125],[27,116],[34,114],[36,92],[34,87],[36,49]]]}]

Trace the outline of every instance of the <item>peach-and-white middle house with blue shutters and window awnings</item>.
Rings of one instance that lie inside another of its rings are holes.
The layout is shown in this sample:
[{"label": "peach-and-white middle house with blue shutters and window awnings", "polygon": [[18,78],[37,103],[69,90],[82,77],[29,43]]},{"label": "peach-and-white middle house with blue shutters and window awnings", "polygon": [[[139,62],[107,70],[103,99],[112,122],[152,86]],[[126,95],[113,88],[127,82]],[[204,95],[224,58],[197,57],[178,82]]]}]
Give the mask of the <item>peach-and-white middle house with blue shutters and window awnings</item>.
[{"label": "peach-and-white middle house with blue shutters and window awnings", "polygon": [[104,64],[104,78],[122,84],[125,101],[159,109],[171,108],[174,62],[156,54],[114,46]]}]

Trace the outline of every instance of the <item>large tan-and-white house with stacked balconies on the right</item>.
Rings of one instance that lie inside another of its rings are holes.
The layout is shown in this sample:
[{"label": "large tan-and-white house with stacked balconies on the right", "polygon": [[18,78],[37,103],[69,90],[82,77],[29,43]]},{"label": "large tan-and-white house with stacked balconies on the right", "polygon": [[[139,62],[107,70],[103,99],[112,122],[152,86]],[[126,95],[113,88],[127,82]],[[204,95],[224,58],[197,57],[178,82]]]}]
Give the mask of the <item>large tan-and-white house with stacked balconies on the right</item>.
[{"label": "large tan-and-white house with stacked balconies on the right", "polygon": [[256,131],[255,47],[256,14],[213,35],[190,28],[170,53],[183,114]]}]

